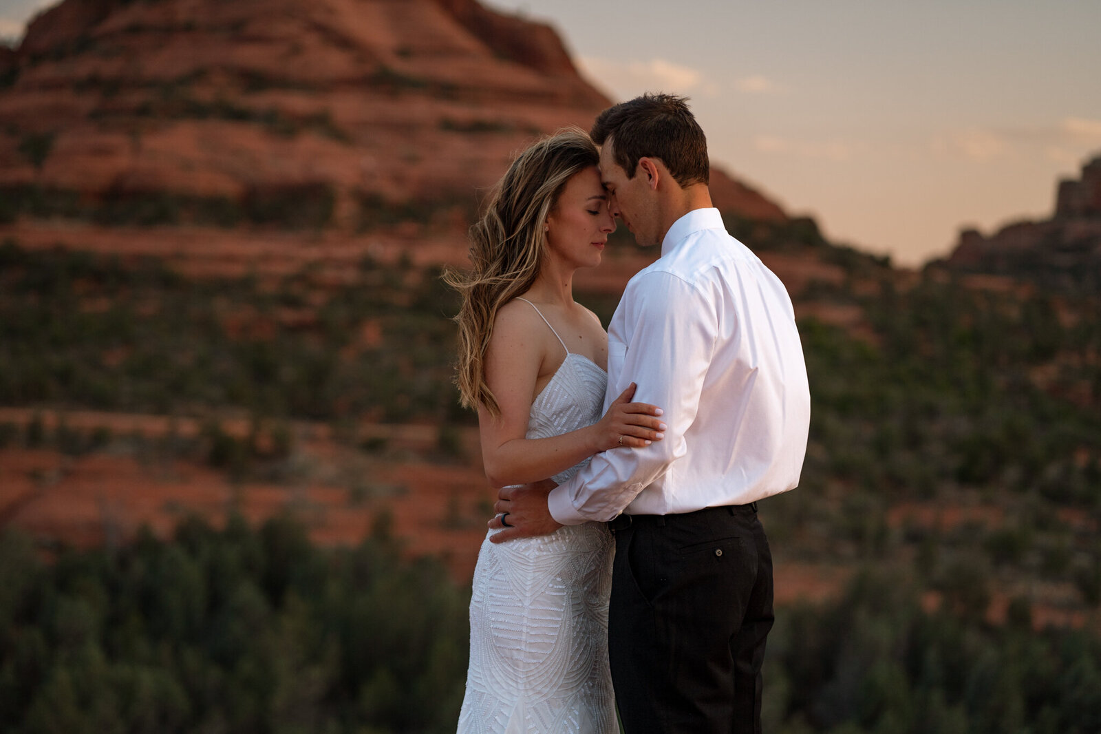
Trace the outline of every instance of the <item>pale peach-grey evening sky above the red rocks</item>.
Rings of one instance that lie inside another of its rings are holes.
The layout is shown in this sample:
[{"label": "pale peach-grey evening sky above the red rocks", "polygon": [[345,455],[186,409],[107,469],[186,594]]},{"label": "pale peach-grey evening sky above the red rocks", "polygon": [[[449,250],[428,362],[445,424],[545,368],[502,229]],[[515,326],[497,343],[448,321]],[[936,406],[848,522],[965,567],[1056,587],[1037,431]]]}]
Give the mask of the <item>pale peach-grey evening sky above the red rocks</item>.
[{"label": "pale peach-grey evening sky above the red rocks", "polygon": [[[613,99],[688,95],[716,164],[895,265],[1048,215],[1101,154],[1099,0],[487,2]],[[47,4],[0,0],[0,36]]]}]

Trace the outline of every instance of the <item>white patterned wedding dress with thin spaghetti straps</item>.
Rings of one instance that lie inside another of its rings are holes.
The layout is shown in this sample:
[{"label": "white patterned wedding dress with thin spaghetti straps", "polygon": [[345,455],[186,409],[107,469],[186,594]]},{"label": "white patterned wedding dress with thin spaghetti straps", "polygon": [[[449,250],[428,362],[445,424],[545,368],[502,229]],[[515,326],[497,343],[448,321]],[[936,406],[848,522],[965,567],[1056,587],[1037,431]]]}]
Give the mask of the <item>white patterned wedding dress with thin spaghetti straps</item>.
[{"label": "white patterned wedding dress with thin spaghetti straps", "polygon": [[[566,349],[532,403],[526,438],[595,423],[607,380],[600,367]],[[562,484],[586,462],[553,478]],[[470,667],[459,733],[619,732],[608,669],[613,549],[608,528],[586,522],[501,544],[489,535],[470,597]]]}]

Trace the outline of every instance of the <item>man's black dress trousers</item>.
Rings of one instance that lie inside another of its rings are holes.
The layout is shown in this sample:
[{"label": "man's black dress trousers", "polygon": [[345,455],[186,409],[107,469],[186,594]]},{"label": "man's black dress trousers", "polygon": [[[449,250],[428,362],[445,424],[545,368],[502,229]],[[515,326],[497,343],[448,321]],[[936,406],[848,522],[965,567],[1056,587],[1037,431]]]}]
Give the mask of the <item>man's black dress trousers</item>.
[{"label": "man's black dress trousers", "polygon": [[626,734],[760,732],[773,586],[755,505],[609,526],[609,650]]}]

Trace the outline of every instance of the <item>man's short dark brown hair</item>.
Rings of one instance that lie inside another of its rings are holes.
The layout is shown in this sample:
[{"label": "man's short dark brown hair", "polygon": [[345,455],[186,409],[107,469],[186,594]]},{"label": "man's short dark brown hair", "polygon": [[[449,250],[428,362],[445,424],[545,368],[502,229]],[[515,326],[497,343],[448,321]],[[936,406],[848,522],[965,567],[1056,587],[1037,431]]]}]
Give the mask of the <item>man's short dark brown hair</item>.
[{"label": "man's short dark brown hair", "polygon": [[610,138],[615,162],[634,177],[640,158],[661,159],[682,187],[707,184],[711,166],[707,138],[688,109],[687,97],[645,94],[609,107],[597,117],[590,137],[598,145]]}]

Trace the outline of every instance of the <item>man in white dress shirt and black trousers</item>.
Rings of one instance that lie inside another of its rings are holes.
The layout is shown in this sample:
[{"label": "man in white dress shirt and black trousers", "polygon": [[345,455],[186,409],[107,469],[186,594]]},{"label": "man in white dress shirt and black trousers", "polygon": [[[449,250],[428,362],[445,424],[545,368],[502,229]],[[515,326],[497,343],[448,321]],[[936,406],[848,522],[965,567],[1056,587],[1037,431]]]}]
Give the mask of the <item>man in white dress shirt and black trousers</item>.
[{"label": "man in white dress shirt and black trousers", "polygon": [[591,134],[612,214],[662,248],[609,324],[608,395],[636,382],[634,400],[662,407],[668,428],[553,489],[502,489],[492,540],[609,521],[626,732],[760,732],[773,589],[756,500],[798,483],[810,417],[792,302],[712,208],[707,141],[684,98],[615,105]]}]

